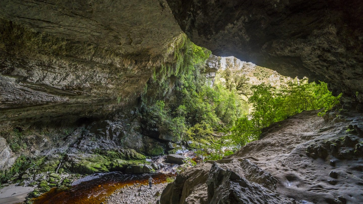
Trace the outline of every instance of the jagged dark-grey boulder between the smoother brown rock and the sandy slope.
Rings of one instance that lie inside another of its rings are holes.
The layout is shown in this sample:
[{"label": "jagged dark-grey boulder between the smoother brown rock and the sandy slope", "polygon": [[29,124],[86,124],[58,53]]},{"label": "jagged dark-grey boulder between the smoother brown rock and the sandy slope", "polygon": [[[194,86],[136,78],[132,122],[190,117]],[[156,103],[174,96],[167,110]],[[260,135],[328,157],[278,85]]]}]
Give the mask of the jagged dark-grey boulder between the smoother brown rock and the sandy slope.
[{"label": "jagged dark-grey boulder between the smoother brown rock and the sandy slope", "polygon": [[295,204],[295,200],[276,193],[277,180],[248,160],[233,162],[244,168],[244,176],[215,162],[207,179],[208,204],[279,203]]}]

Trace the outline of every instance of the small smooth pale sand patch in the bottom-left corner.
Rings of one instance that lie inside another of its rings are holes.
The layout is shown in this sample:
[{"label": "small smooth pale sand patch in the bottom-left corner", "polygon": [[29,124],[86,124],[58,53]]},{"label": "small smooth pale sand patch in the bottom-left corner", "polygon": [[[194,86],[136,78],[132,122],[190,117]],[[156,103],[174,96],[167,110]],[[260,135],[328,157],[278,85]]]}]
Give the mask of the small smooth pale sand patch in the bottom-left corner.
[{"label": "small smooth pale sand patch in the bottom-left corner", "polygon": [[14,204],[25,200],[34,187],[15,186],[12,184],[0,190],[0,204]]}]

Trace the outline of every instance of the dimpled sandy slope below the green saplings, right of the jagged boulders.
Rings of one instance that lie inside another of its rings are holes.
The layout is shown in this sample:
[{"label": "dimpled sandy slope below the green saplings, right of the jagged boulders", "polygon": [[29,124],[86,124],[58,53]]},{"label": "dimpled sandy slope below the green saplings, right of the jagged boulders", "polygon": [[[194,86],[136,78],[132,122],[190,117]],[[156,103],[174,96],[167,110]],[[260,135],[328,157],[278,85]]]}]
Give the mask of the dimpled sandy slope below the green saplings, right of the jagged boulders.
[{"label": "dimpled sandy slope below the green saplings, right of the jagged boulders", "polygon": [[[343,196],[347,204],[363,204],[363,158],[338,159],[326,145],[346,136],[362,142],[363,138],[347,132],[348,125],[362,129],[362,122],[359,113],[324,121],[317,116],[317,111],[302,112],[280,122],[262,140],[249,143],[230,157],[258,158],[259,161],[251,161],[278,180],[277,191],[282,196],[316,204],[335,204],[335,199]],[[326,147],[328,156],[308,157],[309,145]],[[339,147],[338,151],[351,153],[354,146]],[[335,166],[330,165],[330,161],[334,161]],[[330,176],[331,171],[337,172],[337,178]]]}]

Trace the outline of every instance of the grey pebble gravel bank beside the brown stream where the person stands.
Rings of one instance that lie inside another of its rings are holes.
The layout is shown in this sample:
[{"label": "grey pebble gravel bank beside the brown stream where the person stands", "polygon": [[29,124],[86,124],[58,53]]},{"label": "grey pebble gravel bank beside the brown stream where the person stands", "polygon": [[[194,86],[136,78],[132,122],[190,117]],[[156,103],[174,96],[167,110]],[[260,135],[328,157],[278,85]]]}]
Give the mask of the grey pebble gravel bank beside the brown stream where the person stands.
[{"label": "grey pebble gravel bank beside the brown stream where the person stands", "polygon": [[[126,186],[116,190],[106,198],[107,204],[155,204],[167,183],[153,184],[151,188],[144,185]],[[140,190],[141,187],[141,190]],[[159,193],[157,193],[159,192]]]}]

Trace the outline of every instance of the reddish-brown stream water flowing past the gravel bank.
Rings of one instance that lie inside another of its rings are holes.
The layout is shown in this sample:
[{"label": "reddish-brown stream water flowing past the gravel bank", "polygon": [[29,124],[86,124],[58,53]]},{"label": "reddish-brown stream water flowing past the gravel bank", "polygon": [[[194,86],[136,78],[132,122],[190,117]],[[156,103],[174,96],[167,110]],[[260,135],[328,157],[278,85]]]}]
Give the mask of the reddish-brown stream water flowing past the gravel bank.
[{"label": "reddish-brown stream water flowing past the gravel bank", "polygon": [[[32,201],[33,204],[99,204],[118,188],[135,183],[146,185],[149,176],[150,174],[131,175],[119,172],[87,176],[74,182],[69,190],[60,191],[52,188]],[[151,176],[155,183],[163,183],[168,175],[159,173]]]}]

